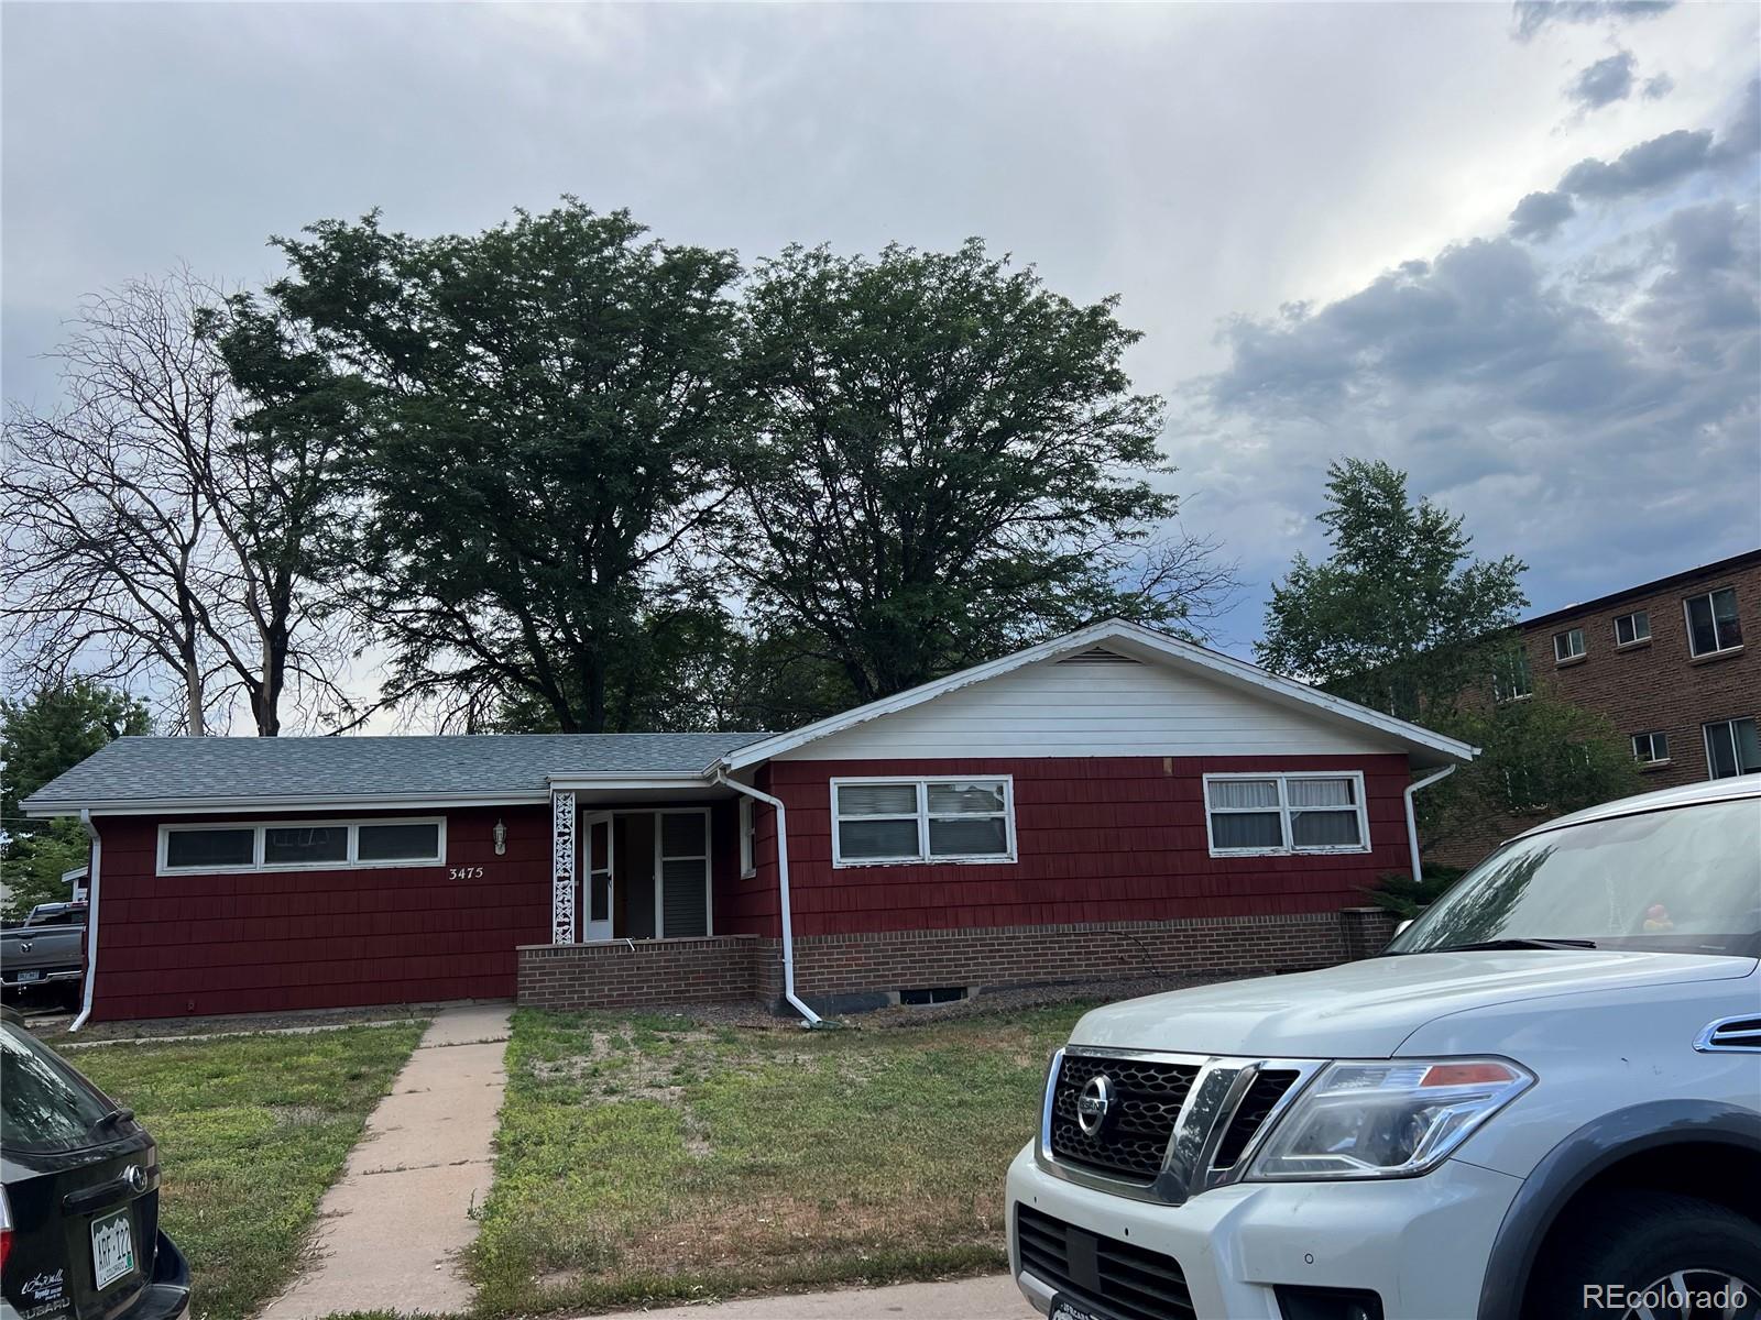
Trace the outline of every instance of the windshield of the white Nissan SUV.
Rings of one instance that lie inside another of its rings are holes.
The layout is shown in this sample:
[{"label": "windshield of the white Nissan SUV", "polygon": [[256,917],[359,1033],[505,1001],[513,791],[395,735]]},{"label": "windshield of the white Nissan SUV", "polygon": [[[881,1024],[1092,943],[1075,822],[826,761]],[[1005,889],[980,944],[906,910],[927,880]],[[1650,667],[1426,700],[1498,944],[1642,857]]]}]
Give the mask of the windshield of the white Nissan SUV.
[{"label": "windshield of the white Nissan SUV", "polygon": [[1504,942],[1761,957],[1761,799],[1641,811],[1514,840],[1388,952]]}]

